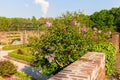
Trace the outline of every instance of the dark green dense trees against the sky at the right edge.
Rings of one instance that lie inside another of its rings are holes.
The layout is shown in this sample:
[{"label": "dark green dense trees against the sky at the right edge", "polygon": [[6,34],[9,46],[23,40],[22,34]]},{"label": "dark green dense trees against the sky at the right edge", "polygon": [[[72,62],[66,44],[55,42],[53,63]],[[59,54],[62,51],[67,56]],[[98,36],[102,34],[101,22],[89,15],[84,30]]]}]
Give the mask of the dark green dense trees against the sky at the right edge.
[{"label": "dark green dense trees against the sky at the right edge", "polygon": [[110,10],[101,10],[95,12],[90,16],[91,26],[102,28],[106,26],[108,28],[117,28],[116,31],[120,31],[120,7],[112,8]]}]

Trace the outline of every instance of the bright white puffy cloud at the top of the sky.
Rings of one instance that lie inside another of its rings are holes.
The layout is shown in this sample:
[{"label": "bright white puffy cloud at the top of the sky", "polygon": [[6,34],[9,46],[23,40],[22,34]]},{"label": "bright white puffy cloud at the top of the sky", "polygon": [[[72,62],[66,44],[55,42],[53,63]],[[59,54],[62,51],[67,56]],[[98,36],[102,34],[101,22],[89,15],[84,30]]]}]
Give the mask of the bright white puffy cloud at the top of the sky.
[{"label": "bright white puffy cloud at the top of the sky", "polygon": [[49,2],[46,0],[35,0],[35,3],[41,6],[41,11],[43,16],[45,16],[49,8]]}]

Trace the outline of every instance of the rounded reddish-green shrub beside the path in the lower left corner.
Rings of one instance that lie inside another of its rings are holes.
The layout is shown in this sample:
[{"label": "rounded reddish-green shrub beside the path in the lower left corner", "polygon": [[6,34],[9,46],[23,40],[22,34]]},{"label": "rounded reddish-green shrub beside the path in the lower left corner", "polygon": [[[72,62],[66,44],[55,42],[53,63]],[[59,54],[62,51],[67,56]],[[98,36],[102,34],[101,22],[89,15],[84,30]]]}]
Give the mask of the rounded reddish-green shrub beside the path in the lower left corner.
[{"label": "rounded reddish-green shrub beside the path in the lower left corner", "polygon": [[8,60],[0,61],[0,76],[10,76],[17,72],[17,67]]}]

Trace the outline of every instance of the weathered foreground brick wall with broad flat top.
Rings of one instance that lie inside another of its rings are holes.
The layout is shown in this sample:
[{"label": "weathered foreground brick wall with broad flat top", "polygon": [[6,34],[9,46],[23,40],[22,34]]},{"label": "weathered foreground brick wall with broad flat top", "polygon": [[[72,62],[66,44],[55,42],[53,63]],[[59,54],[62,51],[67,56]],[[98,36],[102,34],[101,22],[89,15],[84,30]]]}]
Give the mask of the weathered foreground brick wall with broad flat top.
[{"label": "weathered foreground brick wall with broad flat top", "polygon": [[88,52],[48,80],[105,80],[105,54]]}]

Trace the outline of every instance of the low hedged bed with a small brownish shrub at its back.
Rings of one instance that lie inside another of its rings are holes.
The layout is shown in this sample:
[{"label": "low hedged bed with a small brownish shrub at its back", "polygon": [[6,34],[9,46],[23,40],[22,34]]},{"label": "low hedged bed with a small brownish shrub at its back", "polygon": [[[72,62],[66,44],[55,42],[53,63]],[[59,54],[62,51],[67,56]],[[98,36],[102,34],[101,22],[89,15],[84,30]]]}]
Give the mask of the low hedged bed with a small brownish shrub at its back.
[{"label": "low hedged bed with a small brownish shrub at its back", "polygon": [[[19,51],[19,54],[18,54],[18,51]],[[21,52],[22,52],[22,54],[21,54]],[[27,62],[31,62],[33,59],[33,56],[31,53],[25,53],[21,49],[18,49],[18,50],[15,50],[13,52],[8,53],[8,56],[13,57],[13,58],[17,58],[20,60],[24,60]]]}]

